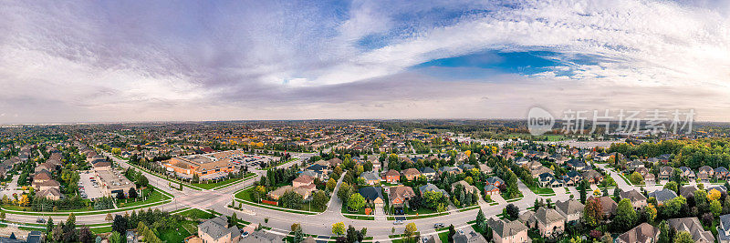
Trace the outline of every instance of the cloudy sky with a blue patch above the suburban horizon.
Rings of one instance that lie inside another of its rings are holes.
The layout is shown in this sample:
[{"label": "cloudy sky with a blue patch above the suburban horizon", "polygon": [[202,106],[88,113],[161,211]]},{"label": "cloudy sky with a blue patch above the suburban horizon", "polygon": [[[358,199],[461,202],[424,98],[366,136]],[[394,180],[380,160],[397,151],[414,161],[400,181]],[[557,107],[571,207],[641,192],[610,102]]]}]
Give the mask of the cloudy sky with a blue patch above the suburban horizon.
[{"label": "cloudy sky with a blue patch above the suburban horizon", "polygon": [[0,1],[0,123],[730,121],[730,2]]}]

